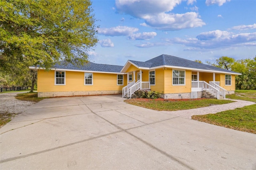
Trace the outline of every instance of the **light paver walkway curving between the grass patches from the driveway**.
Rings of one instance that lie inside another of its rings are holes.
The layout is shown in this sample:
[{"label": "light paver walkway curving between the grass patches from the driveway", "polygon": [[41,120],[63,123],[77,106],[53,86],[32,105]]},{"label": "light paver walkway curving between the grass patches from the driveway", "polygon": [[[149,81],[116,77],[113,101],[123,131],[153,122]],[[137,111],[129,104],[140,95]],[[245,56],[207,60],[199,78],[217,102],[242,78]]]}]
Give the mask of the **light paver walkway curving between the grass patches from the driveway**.
[{"label": "light paver walkway curving between the grass patches from the driveway", "polygon": [[181,111],[162,111],[162,112],[191,119],[191,116],[193,115],[207,115],[210,113],[218,113],[218,112],[227,111],[227,110],[234,110],[236,108],[241,108],[241,107],[256,104],[252,101],[234,100],[234,99],[230,99],[230,100],[236,101],[236,102],[223,104],[223,105],[212,105],[209,107],[200,107],[197,109],[189,109],[189,110],[181,110]]}]

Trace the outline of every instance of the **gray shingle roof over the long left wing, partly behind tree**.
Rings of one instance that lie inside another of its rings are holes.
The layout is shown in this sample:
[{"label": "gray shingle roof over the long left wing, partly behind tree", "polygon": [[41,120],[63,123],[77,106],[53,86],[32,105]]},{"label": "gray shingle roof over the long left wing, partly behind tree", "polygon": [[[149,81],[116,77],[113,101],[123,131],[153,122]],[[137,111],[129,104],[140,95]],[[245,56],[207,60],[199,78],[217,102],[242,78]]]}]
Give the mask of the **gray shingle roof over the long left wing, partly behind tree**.
[{"label": "gray shingle roof over the long left wing, partly behind tree", "polygon": [[97,64],[88,62],[84,66],[75,66],[71,63],[68,64],[56,64],[54,66],[55,69],[72,69],[72,70],[88,70],[88,71],[100,71],[100,72],[113,72],[113,73],[120,73],[123,66],[120,65],[108,65],[108,64]]}]

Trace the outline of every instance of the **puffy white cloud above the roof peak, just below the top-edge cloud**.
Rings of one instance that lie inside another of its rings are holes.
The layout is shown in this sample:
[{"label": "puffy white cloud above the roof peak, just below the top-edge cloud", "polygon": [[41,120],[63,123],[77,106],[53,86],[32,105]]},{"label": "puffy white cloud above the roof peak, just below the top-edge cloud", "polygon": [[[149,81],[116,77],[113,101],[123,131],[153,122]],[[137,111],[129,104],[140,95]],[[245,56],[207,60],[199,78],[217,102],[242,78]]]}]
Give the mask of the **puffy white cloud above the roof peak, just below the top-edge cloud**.
[{"label": "puffy white cloud above the roof peak, just below the top-edge cloud", "polygon": [[185,28],[202,27],[205,23],[198,18],[196,12],[185,14],[161,13],[155,16],[145,16],[146,24],[156,30],[174,31]]}]

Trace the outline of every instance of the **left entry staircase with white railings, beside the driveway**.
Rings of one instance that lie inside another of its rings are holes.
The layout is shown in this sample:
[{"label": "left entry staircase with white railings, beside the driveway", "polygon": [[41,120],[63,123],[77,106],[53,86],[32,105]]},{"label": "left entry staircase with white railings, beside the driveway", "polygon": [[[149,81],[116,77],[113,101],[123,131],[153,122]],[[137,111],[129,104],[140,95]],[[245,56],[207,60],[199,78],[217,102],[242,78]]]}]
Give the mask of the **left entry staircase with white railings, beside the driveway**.
[{"label": "left entry staircase with white railings, beside the driveway", "polygon": [[123,97],[131,98],[135,91],[137,90],[150,90],[149,81],[132,81],[127,86],[123,87]]}]

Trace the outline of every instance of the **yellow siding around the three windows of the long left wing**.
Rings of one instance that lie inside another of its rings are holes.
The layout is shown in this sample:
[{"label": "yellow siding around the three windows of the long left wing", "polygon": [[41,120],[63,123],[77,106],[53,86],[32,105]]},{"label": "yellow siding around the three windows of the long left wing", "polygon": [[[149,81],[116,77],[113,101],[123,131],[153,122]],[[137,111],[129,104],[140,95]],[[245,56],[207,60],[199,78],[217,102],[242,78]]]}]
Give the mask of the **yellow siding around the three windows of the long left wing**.
[{"label": "yellow siding around the three windows of the long left wing", "polygon": [[66,85],[54,85],[54,70],[38,70],[38,92],[54,91],[111,91],[122,90],[127,84],[117,85],[117,74],[93,73],[93,85],[84,85],[84,72],[66,71]]}]

